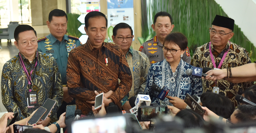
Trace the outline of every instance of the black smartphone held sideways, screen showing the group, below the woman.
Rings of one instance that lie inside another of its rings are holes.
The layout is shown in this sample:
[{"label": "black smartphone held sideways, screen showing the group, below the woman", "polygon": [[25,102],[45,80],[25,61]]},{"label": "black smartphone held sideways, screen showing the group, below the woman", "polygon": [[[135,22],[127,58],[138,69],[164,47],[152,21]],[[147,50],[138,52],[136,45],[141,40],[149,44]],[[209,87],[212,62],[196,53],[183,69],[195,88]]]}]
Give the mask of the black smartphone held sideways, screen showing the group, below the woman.
[{"label": "black smartphone held sideways, screen showing the group, below the woman", "polygon": [[138,108],[138,121],[151,121],[155,120],[160,115],[165,115],[168,112],[166,105],[157,106],[140,106]]}]

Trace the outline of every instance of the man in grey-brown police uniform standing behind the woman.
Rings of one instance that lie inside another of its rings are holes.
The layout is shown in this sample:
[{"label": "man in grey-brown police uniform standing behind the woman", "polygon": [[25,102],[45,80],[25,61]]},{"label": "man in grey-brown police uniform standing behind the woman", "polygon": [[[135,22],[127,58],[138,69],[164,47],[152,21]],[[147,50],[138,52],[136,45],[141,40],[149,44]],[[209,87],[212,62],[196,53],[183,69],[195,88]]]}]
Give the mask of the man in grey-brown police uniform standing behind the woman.
[{"label": "man in grey-brown police uniform standing behind the woman", "polygon": [[[154,24],[151,26],[156,32],[156,36],[143,43],[139,51],[146,54],[150,60],[150,64],[153,64],[165,59],[163,56],[162,44],[165,37],[171,33],[174,25],[172,25],[172,17],[169,13],[158,12],[154,17]],[[191,58],[188,47],[181,59],[190,64]]]}]

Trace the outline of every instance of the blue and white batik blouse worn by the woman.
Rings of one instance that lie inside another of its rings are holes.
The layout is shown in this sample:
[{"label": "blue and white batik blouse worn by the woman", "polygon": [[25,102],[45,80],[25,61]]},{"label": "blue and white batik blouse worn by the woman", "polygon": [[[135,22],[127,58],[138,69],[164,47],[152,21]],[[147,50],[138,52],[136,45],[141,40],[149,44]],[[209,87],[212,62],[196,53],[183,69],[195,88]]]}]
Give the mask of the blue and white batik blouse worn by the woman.
[{"label": "blue and white batik blouse worn by the woman", "polygon": [[[169,99],[165,98],[163,101],[157,98],[158,92],[152,90],[153,84],[160,88],[166,86],[170,89],[168,95],[171,97],[178,97],[185,99],[186,94],[196,95],[198,97],[202,94],[202,84],[200,78],[194,78],[187,75],[188,71],[192,72],[192,66],[181,59],[177,66],[175,73],[172,72],[170,63],[165,60],[153,64],[147,74],[147,85],[144,93],[150,95],[151,103],[158,105],[171,105]],[[174,83],[171,83],[171,78],[174,77]]]}]

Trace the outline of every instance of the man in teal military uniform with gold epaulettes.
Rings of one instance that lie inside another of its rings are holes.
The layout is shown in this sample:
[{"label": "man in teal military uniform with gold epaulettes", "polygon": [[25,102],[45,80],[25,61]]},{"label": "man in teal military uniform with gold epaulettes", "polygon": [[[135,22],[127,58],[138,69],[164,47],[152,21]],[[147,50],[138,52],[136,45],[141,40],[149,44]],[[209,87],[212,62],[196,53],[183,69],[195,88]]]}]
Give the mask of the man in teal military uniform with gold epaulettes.
[{"label": "man in teal military uniform with gold epaulettes", "polygon": [[68,17],[67,14],[59,9],[54,9],[49,13],[47,26],[51,34],[38,39],[38,50],[53,56],[59,67],[61,81],[63,85],[63,101],[57,112],[57,117],[66,111],[67,103],[75,104],[75,100],[68,94],[67,87],[67,64],[68,56],[71,49],[82,45],[79,38],[66,35]]}]

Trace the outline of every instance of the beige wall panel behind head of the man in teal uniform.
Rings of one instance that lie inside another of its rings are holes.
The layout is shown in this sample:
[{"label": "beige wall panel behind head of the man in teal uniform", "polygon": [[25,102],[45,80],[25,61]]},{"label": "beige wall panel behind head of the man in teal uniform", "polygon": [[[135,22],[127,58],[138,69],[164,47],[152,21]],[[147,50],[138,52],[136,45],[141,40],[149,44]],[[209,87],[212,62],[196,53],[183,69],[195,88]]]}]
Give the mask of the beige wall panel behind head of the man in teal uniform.
[{"label": "beige wall panel behind head of the man in teal uniform", "polygon": [[31,0],[32,26],[47,25],[49,13],[54,9],[66,12],[66,0]]}]

